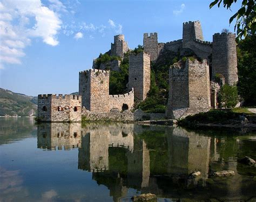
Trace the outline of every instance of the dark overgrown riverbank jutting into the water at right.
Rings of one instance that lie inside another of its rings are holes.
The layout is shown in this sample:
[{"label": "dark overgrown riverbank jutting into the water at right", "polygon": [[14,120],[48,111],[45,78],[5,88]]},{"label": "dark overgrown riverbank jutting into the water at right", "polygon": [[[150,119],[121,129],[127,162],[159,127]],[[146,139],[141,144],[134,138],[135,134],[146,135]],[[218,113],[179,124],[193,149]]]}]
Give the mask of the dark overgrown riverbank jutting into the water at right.
[{"label": "dark overgrown riverbank jutting into the water at right", "polygon": [[256,114],[248,110],[210,110],[187,116],[178,125],[190,129],[226,129],[234,131],[256,131]]}]

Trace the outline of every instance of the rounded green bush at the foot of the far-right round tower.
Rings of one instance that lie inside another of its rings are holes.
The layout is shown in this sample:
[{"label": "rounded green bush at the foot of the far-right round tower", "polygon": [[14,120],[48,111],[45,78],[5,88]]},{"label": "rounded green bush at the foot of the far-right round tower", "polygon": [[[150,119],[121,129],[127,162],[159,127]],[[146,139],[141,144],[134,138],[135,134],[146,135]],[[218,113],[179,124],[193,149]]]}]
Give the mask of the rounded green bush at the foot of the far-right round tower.
[{"label": "rounded green bush at the foot of the far-right round tower", "polygon": [[231,108],[238,103],[237,86],[229,86],[225,84],[220,88],[218,94],[219,107]]}]

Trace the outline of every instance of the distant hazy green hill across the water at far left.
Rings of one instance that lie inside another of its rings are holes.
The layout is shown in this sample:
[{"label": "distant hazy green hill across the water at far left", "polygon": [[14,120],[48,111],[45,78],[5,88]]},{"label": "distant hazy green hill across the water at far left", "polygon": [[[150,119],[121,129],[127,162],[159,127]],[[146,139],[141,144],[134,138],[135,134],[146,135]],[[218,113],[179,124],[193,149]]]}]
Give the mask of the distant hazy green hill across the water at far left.
[{"label": "distant hazy green hill across the water at far left", "polygon": [[36,116],[37,97],[0,88],[0,116]]}]

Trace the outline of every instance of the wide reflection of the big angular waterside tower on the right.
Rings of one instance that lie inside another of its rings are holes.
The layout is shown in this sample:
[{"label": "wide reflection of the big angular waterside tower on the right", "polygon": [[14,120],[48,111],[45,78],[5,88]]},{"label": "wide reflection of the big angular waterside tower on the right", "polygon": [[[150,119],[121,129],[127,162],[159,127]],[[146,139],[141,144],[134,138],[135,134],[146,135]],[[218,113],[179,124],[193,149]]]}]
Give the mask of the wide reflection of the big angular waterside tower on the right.
[{"label": "wide reflection of the big angular waterside tower on the right", "polygon": [[200,171],[205,182],[208,177],[211,138],[188,133],[178,127],[168,137],[169,172],[189,174]]}]

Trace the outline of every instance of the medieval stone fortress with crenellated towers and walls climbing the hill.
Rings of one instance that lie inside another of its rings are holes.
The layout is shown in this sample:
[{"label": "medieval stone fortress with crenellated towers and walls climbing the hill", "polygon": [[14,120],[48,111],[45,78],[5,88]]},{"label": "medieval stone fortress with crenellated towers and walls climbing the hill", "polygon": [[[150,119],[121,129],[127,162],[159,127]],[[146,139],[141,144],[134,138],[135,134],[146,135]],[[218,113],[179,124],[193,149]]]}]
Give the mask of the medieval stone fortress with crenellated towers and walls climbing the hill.
[{"label": "medieval stone fortress with crenellated towers and walls climbing the hill", "polygon": [[[179,119],[187,115],[217,108],[220,85],[235,85],[237,75],[237,52],[235,34],[215,33],[213,41],[204,41],[200,22],[183,23],[183,38],[158,43],[157,33],[144,33],[144,51],[132,53],[124,35],[114,36],[111,49],[106,52],[120,59],[97,65],[79,72],[79,95],[38,95],[38,118],[42,121],[81,121],[84,110],[90,113],[109,113],[112,109],[131,110],[134,99],[143,101],[150,90],[151,62],[175,53],[197,59],[179,61],[169,69],[169,100],[166,117]],[[129,82],[127,93],[109,94],[110,71],[120,71],[121,61],[129,55]],[[215,79],[221,75],[221,83]]]}]

